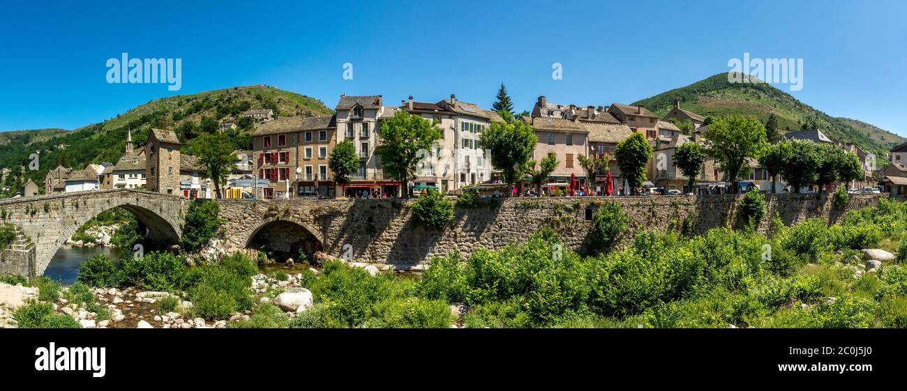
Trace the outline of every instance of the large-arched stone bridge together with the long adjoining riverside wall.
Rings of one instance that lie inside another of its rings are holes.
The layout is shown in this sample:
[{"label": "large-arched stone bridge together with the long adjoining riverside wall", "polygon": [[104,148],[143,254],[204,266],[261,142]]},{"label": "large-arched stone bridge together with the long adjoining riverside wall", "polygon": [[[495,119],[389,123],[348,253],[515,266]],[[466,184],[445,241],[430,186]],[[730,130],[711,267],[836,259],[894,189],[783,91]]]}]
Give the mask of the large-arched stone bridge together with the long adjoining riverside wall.
[{"label": "large-arched stone bridge together with the long adjoining riverside wall", "polygon": [[[834,223],[846,211],[874,206],[888,195],[852,195],[848,205],[831,196],[766,196],[760,231],[781,216],[785,224],[820,217]],[[590,216],[604,202],[619,203],[637,229],[668,229],[692,219],[697,233],[736,221],[739,196],[552,197],[489,200],[476,208],[456,208],[443,229],[415,224],[414,201],[399,199],[219,200],[221,242],[228,253],[265,249],[297,259],[323,251],[356,262],[408,267],[453,251],[469,256],[479,247],[500,249],[552,228],[571,250],[582,251]],[[142,190],[94,190],[0,201],[0,217],[14,224],[28,244],[0,249],[0,274],[41,275],[57,249],[93,216],[114,207],[132,212],[156,243],[179,243],[185,214],[193,201]],[[640,228],[641,227],[641,228]]]}]

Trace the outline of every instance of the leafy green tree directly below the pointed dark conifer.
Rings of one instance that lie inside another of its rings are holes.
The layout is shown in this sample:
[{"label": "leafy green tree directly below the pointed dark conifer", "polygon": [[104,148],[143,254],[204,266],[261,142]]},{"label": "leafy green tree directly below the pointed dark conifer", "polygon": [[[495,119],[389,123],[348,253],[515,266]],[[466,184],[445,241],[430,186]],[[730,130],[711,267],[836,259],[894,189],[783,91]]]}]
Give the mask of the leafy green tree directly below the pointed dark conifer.
[{"label": "leafy green tree directly below the pointed dark conifer", "polygon": [[501,171],[507,182],[507,196],[513,194],[512,186],[532,159],[538,142],[535,129],[522,120],[492,122],[482,133],[482,145],[492,154],[492,167]]}]

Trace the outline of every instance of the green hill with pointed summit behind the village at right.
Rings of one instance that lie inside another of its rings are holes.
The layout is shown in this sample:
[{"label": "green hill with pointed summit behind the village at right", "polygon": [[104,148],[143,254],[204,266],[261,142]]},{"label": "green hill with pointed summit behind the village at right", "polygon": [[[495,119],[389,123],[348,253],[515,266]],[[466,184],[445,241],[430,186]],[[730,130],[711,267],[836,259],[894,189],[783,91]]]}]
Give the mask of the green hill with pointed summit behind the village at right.
[{"label": "green hill with pointed summit behind the village at right", "polygon": [[684,110],[706,117],[744,114],[756,116],[765,122],[774,113],[780,128],[787,131],[800,130],[803,123],[814,123],[828,137],[841,142],[853,142],[880,158],[893,146],[907,141],[907,138],[865,122],[831,117],[761,81],[729,82],[727,73],[718,73],[686,87],[662,92],[634,102],[633,105],[643,105],[663,116],[670,111],[674,100],[680,100],[680,107]]}]

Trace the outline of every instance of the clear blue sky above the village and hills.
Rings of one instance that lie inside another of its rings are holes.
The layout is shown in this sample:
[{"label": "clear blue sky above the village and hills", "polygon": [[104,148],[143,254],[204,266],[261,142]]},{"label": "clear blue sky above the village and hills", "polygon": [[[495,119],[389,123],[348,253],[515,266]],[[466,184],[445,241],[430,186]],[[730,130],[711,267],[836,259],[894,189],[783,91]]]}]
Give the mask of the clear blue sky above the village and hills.
[{"label": "clear blue sky above the village and hills", "polygon": [[[797,99],[907,136],[904,14],[901,1],[14,2],[0,16],[0,129],[76,129],[251,84],[331,108],[344,92],[488,107],[501,81],[517,110],[541,94],[604,106],[727,72],[750,52],[803,58]],[[104,63],[122,52],[181,58],[182,90],[108,84]]]}]

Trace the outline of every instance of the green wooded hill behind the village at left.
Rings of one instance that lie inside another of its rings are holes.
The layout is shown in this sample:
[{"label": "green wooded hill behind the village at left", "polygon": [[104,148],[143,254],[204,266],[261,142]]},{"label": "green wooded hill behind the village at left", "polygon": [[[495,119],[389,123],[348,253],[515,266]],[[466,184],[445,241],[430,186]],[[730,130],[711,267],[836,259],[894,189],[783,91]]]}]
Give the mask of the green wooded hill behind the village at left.
[{"label": "green wooded hill behind the village at left", "polygon": [[17,174],[27,165],[29,155],[35,152],[41,163],[36,171],[24,171],[22,179],[8,176],[4,185],[11,190],[5,195],[15,192],[17,180],[32,178],[43,186],[47,171],[57,166],[82,168],[90,163],[116,162],[125,149],[129,129],[132,129],[132,140],[137,147],[144,145],[152,126],[176,131],[180,141],[186,144],[201,134],[218,129],[220,123],[233,122],[245,125],[230,132],[235,148],[251,149],[252,127],[240,120],[239,114],[255,109],[272,109],[278,117],[333,113],[320,100],[256,85],[151,100],[115,118],[72,131],[0,132],[0,168],[8,167]]}]

